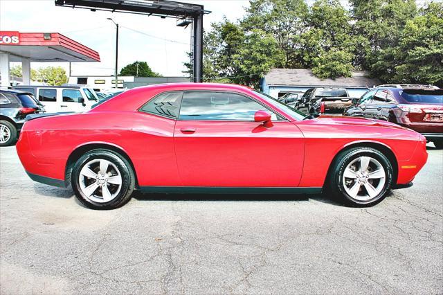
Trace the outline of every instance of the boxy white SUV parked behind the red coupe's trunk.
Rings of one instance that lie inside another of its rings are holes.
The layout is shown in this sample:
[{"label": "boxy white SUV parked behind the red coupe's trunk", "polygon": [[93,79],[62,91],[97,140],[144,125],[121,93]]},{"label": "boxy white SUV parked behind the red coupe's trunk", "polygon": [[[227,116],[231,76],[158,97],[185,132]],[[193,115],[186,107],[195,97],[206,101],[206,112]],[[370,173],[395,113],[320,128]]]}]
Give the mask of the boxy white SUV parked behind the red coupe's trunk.
[{"label": "boxy white SUV parked behind the red coupe's trunk", "polygon": [[17,85],[14,89],[33,93],[44,105],[46,113],[88,111],[98,102],[93,89],[84,86]]}]

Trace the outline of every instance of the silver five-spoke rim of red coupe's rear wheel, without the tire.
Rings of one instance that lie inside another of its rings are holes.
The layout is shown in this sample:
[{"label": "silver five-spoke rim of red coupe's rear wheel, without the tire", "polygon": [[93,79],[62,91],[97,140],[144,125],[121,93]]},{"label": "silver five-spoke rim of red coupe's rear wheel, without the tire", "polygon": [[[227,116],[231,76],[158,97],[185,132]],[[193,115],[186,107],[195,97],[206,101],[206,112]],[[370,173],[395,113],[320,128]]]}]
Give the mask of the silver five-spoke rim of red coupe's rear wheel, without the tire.
[{"label": "silver five-spoke rim of red coupe's rear wheel, without the tire", "polygon": [[93,202],[106,203],[120,193],[122,176],[110,161],[94,159],[80,170],[78,183],[85,197]]}]

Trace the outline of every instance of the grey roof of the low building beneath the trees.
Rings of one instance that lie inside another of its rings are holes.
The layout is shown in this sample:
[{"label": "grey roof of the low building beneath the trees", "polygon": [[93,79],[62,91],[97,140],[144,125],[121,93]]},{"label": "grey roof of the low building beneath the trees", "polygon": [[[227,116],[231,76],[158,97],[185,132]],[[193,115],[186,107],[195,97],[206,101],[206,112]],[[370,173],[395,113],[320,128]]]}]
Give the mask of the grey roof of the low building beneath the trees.
[{"label": "grey roof of the low building beneath the trees", "polygon": [[317,78],[310,69],[272,69],[264,76],[268,86],[332,86],[332,87],[374,87],[381,84],[377,78],[368,78],[368,73],[355,71],[352,77],[336,79]]}]

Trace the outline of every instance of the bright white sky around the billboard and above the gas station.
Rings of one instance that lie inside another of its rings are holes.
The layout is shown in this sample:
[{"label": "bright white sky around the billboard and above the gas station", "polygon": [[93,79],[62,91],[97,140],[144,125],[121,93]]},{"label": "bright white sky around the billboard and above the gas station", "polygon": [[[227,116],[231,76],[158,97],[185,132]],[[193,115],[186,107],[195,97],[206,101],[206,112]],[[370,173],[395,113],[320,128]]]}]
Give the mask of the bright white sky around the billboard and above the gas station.
[{"label": "bright white sky around the billboard and above the gas station", "polygon": [[[223,17],[235,21],[244,15],[247,0],[182,0],[204,5],[212,11],[204,16],[204,28]],[[183,76],[183,62],[190,51],[190,26],[177,27],[176,19],[161,19],[145,15],[111,13],[55,6],[53,0],[0,0],[0,30],[21,33],[62,33],[98,51],[101,62],[73,62],[71,75],[114,75],[116,29],[112,17],[120,25],[119,71],[136,60],[145,61],[153,71],[164,76]],[[152,37],[154,36],[154,37]],[[170,42],[168,40],[175,42]],[[14,66],[17,63],[12,63]],[[19,63],[18,63],[19,64]],[[31,68],[63,66],[68,63],[31,63]]]}]

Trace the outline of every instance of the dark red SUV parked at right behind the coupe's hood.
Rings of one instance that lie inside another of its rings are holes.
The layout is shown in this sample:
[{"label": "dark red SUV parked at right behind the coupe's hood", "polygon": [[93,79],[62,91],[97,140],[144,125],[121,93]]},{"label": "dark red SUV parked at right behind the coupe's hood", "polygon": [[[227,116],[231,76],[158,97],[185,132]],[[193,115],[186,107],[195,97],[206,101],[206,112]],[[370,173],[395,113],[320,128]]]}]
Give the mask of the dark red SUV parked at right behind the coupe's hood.
[{"label": "dark red SUV parked at right behind the coupe's hood", "polygon": [[397,123],[443,148],[443,89],[377,87],[353,102],[343,113],[345,116]]}]

